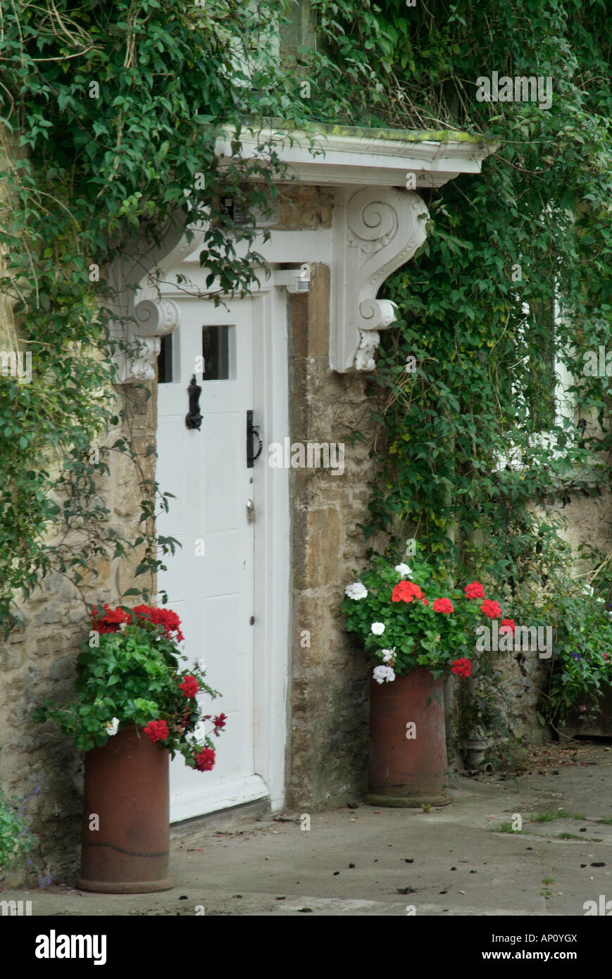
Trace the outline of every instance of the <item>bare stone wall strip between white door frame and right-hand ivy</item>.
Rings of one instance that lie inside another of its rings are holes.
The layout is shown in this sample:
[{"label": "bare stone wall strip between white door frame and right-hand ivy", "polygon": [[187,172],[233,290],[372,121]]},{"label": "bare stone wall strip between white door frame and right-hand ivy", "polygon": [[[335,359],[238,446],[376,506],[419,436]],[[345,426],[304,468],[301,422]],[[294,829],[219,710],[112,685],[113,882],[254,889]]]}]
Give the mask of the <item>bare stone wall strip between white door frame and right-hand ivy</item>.
[{"label": "bare stone wall strip between white door frame and right-hand ivy", "polygon": [[[368,676],[343,628],[345,584],[365,561],[356,527],[367,518],[374,463],[367,443],[366,377],[329,369],[329,281],[311,266],[291,303],[291,438],[345,443],[345,471],[292,470],[294,644],[288,804],[320,808],[359,798],[367,783]],[[309,632],[309,646],[303,630]],[[304,643],[305,645],[301,644]]]}]

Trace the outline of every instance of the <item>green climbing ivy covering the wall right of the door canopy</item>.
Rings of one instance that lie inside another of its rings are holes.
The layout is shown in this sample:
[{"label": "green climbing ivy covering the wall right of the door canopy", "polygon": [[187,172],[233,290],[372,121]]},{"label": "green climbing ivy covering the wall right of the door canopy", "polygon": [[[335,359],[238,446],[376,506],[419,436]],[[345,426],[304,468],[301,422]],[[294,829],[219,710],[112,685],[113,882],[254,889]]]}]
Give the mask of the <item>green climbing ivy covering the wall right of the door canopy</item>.
[{"label": "green climbing ivy covering the wall right of the door canopy", "polygon": [[[378,476],[363,531],[397,554],[416,536],[456,579],[503,588],[521,621],[554,623],[542,717],[557,723],[606,669],[599,656],[578,677],[577,641],[582,656],[607,626],[600,606],[582,634],[595,610],[562,574],[560,511],[610,489],[610,381],[592,364],[612,350],[611,5],[310,6],[318,50],[296,66],[313,117],[459,130],[493,151],[481,174],[419,191],[427,241],[387,281],[400,319],[369,386]],[[488,101],[494,72],[540,79],[551,98],[528,88],[520,101],[521,87]],[[599,567],[592,584],[609,598],[606,555]]]}]

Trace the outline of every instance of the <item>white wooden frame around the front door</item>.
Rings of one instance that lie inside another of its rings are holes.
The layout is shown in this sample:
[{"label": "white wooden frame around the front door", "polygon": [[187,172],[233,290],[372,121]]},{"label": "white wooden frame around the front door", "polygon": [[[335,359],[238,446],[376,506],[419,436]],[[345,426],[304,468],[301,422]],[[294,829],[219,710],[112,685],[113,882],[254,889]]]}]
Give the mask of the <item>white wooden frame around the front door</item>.
[{"label": "white wooden frame around the front door", "polygon": [[[175,273],[182,272],[194,285],[204,288],[204,283],[199,280],[204,279],[206,269],[200,268],[198,255],[199,250],[195,256],[189,256],[165,272],[165,282],[160,287],[163,301],[211,302],[188,298],[184,289],[173,287],[167,281],[174,278]],[[284,290],[274,288],[268,282],[254,289],[253,295],[244,300],[226,299],[234,303],[252,303],[253,312],[253,409],[263,441],[263,450],[254,467],[255,773],[267,789],[267,792],[255,789],[253,801],[269,797],[270,807],[278,809],[284,802],[288,744],[291,518],[289,471],[267,465],[266,447],[272,442],[282,444],[289,432],[287,298]],[[180,326],[177,332],[180,333]],[[180,336],[178,342],[180,344]],[[213,677],[211,681],[214,681]],[[219,750],[223,750],[222,738]],[[231,806],[231,800],[226,800],[226,804]],[[219,808],[225,808],[225,805]]]}]

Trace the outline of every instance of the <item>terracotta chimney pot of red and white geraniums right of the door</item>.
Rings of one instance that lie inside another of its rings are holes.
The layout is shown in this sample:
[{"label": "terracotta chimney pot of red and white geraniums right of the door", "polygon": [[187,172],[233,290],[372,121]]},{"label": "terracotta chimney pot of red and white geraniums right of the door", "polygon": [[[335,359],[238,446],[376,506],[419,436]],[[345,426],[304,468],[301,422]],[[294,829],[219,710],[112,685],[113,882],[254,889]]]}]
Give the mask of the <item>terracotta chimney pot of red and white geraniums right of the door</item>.
[{"label": "terracotta chimney pot of red and white geraniums right of the door", "polygon": [[480,582],[447,584],[444,568],[376,556],[345,589],[347,629],[369,654],[370,790],[375,806],[441,806],[446,790],[444,677],[472,674],[476,628],[501,620]]}]

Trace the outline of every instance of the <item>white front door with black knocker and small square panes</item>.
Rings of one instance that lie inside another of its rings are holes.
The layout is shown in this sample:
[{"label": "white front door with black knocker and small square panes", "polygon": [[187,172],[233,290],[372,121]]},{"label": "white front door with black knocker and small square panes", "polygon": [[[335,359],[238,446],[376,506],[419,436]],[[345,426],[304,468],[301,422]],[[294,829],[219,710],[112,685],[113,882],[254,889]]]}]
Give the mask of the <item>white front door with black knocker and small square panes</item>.
[{"label": "white front door with black knocker and small square panes", "polygon": [[[247,412],[254,407],[253,302],[227,305],[180,302],[180,330],[165,338],[171,368],[166,360],[158,386],[157,481],[175,497],[158,519],[158,533],[182,545],[165,556],[167,571],[160,573],[159,587],[182,620],[190,663],[204,660],[207,680],[222,694],[213,701],[205,695],[205,713],[227,716],[225,730],[213,739],[212,771],[187,768],[181,755],[171,763],[172,821],[267,795],[256,774],[255,745],[258,467],[250,468],[247,459]],[[194,374],[202,388],[200,431],[185,424]],[[257,449],[257,439],[254,443]]]}]

